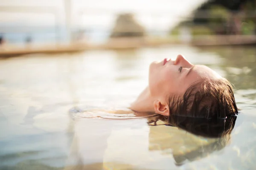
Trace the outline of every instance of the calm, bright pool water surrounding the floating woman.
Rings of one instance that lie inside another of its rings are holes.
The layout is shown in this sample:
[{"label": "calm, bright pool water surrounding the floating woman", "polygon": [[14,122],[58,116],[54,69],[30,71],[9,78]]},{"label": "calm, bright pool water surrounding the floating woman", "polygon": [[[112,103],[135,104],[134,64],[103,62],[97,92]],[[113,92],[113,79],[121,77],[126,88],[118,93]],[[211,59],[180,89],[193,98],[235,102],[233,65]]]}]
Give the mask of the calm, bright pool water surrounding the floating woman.
[{"label": "calm, bright pool water surrounding the floating woman", "polygon": [[[125,110],[147,85],[149,63],[177,54],[235,85],[242,114],[228,139],[149,126],[148,119],[72,119],[74,108]],[[0,169],[254,170],[255,104],[254,47],[172,46],[1,59]]]}]

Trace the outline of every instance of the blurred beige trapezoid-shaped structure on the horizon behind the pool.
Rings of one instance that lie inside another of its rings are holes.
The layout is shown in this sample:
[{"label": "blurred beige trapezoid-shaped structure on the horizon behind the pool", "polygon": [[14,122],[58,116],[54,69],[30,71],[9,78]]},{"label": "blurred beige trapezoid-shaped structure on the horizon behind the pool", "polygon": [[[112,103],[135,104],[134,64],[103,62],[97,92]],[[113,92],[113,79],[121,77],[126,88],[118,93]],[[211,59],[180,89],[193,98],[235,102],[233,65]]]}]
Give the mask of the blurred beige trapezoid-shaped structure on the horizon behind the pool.
[{"label": "blurred beige trapezoid-shaped structure on the horizon behind the pool", "polygon": [[143,37],[145,28],[138,23],[133,14],[119,14],[111,33],[111,38],[116,37]]}]

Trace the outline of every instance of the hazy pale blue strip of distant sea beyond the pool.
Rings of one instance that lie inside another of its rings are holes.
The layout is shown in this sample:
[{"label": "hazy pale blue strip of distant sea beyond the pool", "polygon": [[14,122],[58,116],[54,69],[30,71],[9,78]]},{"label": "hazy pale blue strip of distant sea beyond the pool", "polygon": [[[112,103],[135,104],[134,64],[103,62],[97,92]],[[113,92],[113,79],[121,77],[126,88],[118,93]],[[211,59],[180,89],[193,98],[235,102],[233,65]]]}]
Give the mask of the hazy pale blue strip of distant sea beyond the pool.
[{"label": "hazy pale blue strip of distant sea beyond the pool", "polygon": [[[42,44],[42,43],[66,43],[67,42],[67,33],[64,26],[54,27],[45,27],[45,28],[30,28],[26,30],[26,27],[16,26],[16,31],[8,32],[3,31],[3,26],[0,25],[0,36],[3,36],[5,41],[15,45],[24,45],[28,38],[31,39],[33,44]],[[9,28],[13,30],[12,27]],[[8,30],[8,27],[5,28]],[[18,30],[18,33],[17,33]],[[20,33],[20,31],[23,31]],[[39,30],[39,31],[38,31]],[[79,31],[81,32],[79,35]],[[73,31],[73,36],[76,39],[84,40],[92,43],[102,43],[108,40],[108,37],[111,34],[111,31],[108,29],[99,29],[99,28],[76,28]],[[79,37],[80,36],[80,37]]]}]

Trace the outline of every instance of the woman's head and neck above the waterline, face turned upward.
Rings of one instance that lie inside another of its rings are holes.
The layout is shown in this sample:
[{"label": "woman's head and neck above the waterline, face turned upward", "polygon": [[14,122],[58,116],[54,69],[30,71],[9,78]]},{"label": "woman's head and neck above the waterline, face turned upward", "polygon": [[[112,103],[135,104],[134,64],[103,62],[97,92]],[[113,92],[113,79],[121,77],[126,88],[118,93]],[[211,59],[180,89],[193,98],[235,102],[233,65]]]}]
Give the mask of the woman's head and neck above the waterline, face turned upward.
[{"label": "woman's head and neck above the waterline, face turned upward", "polygon": [[176,60],[152,62],[148,80],[148,87],[131,104],[131,110],[208,119],[238,113],[230,82],[182,55]]}]

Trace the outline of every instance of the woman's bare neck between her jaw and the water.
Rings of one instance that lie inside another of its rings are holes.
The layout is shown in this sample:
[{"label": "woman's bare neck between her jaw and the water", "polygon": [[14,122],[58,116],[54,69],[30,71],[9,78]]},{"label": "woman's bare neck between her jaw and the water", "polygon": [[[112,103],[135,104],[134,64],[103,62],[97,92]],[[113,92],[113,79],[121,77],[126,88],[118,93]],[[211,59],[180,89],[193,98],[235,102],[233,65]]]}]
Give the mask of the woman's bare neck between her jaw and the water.
[{"label": "woman's bare neck between her jaw and the water", "polygon": [[130,109],[137,112],[154,112],[153,103],[154,99],[151,97],[149,88],[147,87],[131,104]]}]

